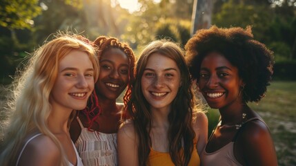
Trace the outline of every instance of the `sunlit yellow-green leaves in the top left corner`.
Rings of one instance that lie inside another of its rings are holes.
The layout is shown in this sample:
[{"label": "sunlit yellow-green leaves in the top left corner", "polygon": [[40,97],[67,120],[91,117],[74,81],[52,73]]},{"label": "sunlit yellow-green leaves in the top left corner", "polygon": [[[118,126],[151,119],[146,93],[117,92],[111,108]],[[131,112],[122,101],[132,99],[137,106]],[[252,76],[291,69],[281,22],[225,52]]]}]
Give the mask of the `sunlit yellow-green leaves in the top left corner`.
[{"label": "sunlit yellow-green leaves in the top left corner", "polygon": [[0,26],[8,29],[30,28],[32,19],[41,14],[38,0],[1,0]]}]

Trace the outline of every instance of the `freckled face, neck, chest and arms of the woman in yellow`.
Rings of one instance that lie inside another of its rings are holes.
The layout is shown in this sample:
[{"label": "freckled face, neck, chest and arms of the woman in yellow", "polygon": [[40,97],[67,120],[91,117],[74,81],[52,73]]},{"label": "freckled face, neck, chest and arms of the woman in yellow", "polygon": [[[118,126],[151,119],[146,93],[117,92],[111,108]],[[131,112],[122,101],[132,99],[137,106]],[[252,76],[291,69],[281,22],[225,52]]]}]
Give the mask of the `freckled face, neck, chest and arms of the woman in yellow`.
[{"label": "freckled face, neck, chest and arms of the woman in yellow", "polygon": [[[175,99],[181,76],[176,62],[159,53],[153,53],[148,58],[146,68],[141,77],[141,91],[150,104],[152,128],[150,138],[152,149],[159,152],[168,152],[168,113],[171,110],[172,100]],[[198,140],[198,151],[204,147],[207,138],[207,118],[204,113],[199,113],[193,124]],[[131,122],[124,124],[118,132],[119,165],[139,165],[138,163],[138,138]],[[128,153],[126,153],[128,151]]]}]

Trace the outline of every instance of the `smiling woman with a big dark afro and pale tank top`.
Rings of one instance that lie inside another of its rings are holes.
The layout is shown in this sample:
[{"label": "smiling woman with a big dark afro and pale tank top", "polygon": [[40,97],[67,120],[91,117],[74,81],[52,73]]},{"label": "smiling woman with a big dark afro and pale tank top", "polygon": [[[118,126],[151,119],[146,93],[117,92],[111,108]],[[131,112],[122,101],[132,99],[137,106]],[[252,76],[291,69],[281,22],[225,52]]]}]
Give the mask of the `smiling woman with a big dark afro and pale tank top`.
[{"label": "smiling woman with a big dark afro and pale tank top", "polygon": [[277,165],[270,131],[248,102],[259,102],[273,74],[273,53],[250,27],[198,30],[185,46],[186,62],[219,124],[201,165]]}]

